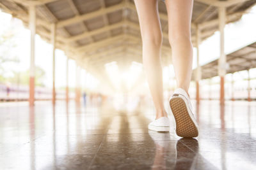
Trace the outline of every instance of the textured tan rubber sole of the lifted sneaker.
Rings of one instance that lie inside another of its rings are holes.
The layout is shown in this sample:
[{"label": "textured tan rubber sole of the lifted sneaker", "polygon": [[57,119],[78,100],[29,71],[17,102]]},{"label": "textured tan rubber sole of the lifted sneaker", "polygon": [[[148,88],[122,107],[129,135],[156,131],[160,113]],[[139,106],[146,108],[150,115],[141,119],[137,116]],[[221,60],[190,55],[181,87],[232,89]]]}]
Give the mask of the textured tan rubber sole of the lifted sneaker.
[{"label": "textured tan rubber sole of the lifted sneaker", "polygon": [[170,108],[176,122],[176,133],[183,138],[195,138],[198,136],[198,129],[189,116],[185,101],[180,97],[170,99]]}]

